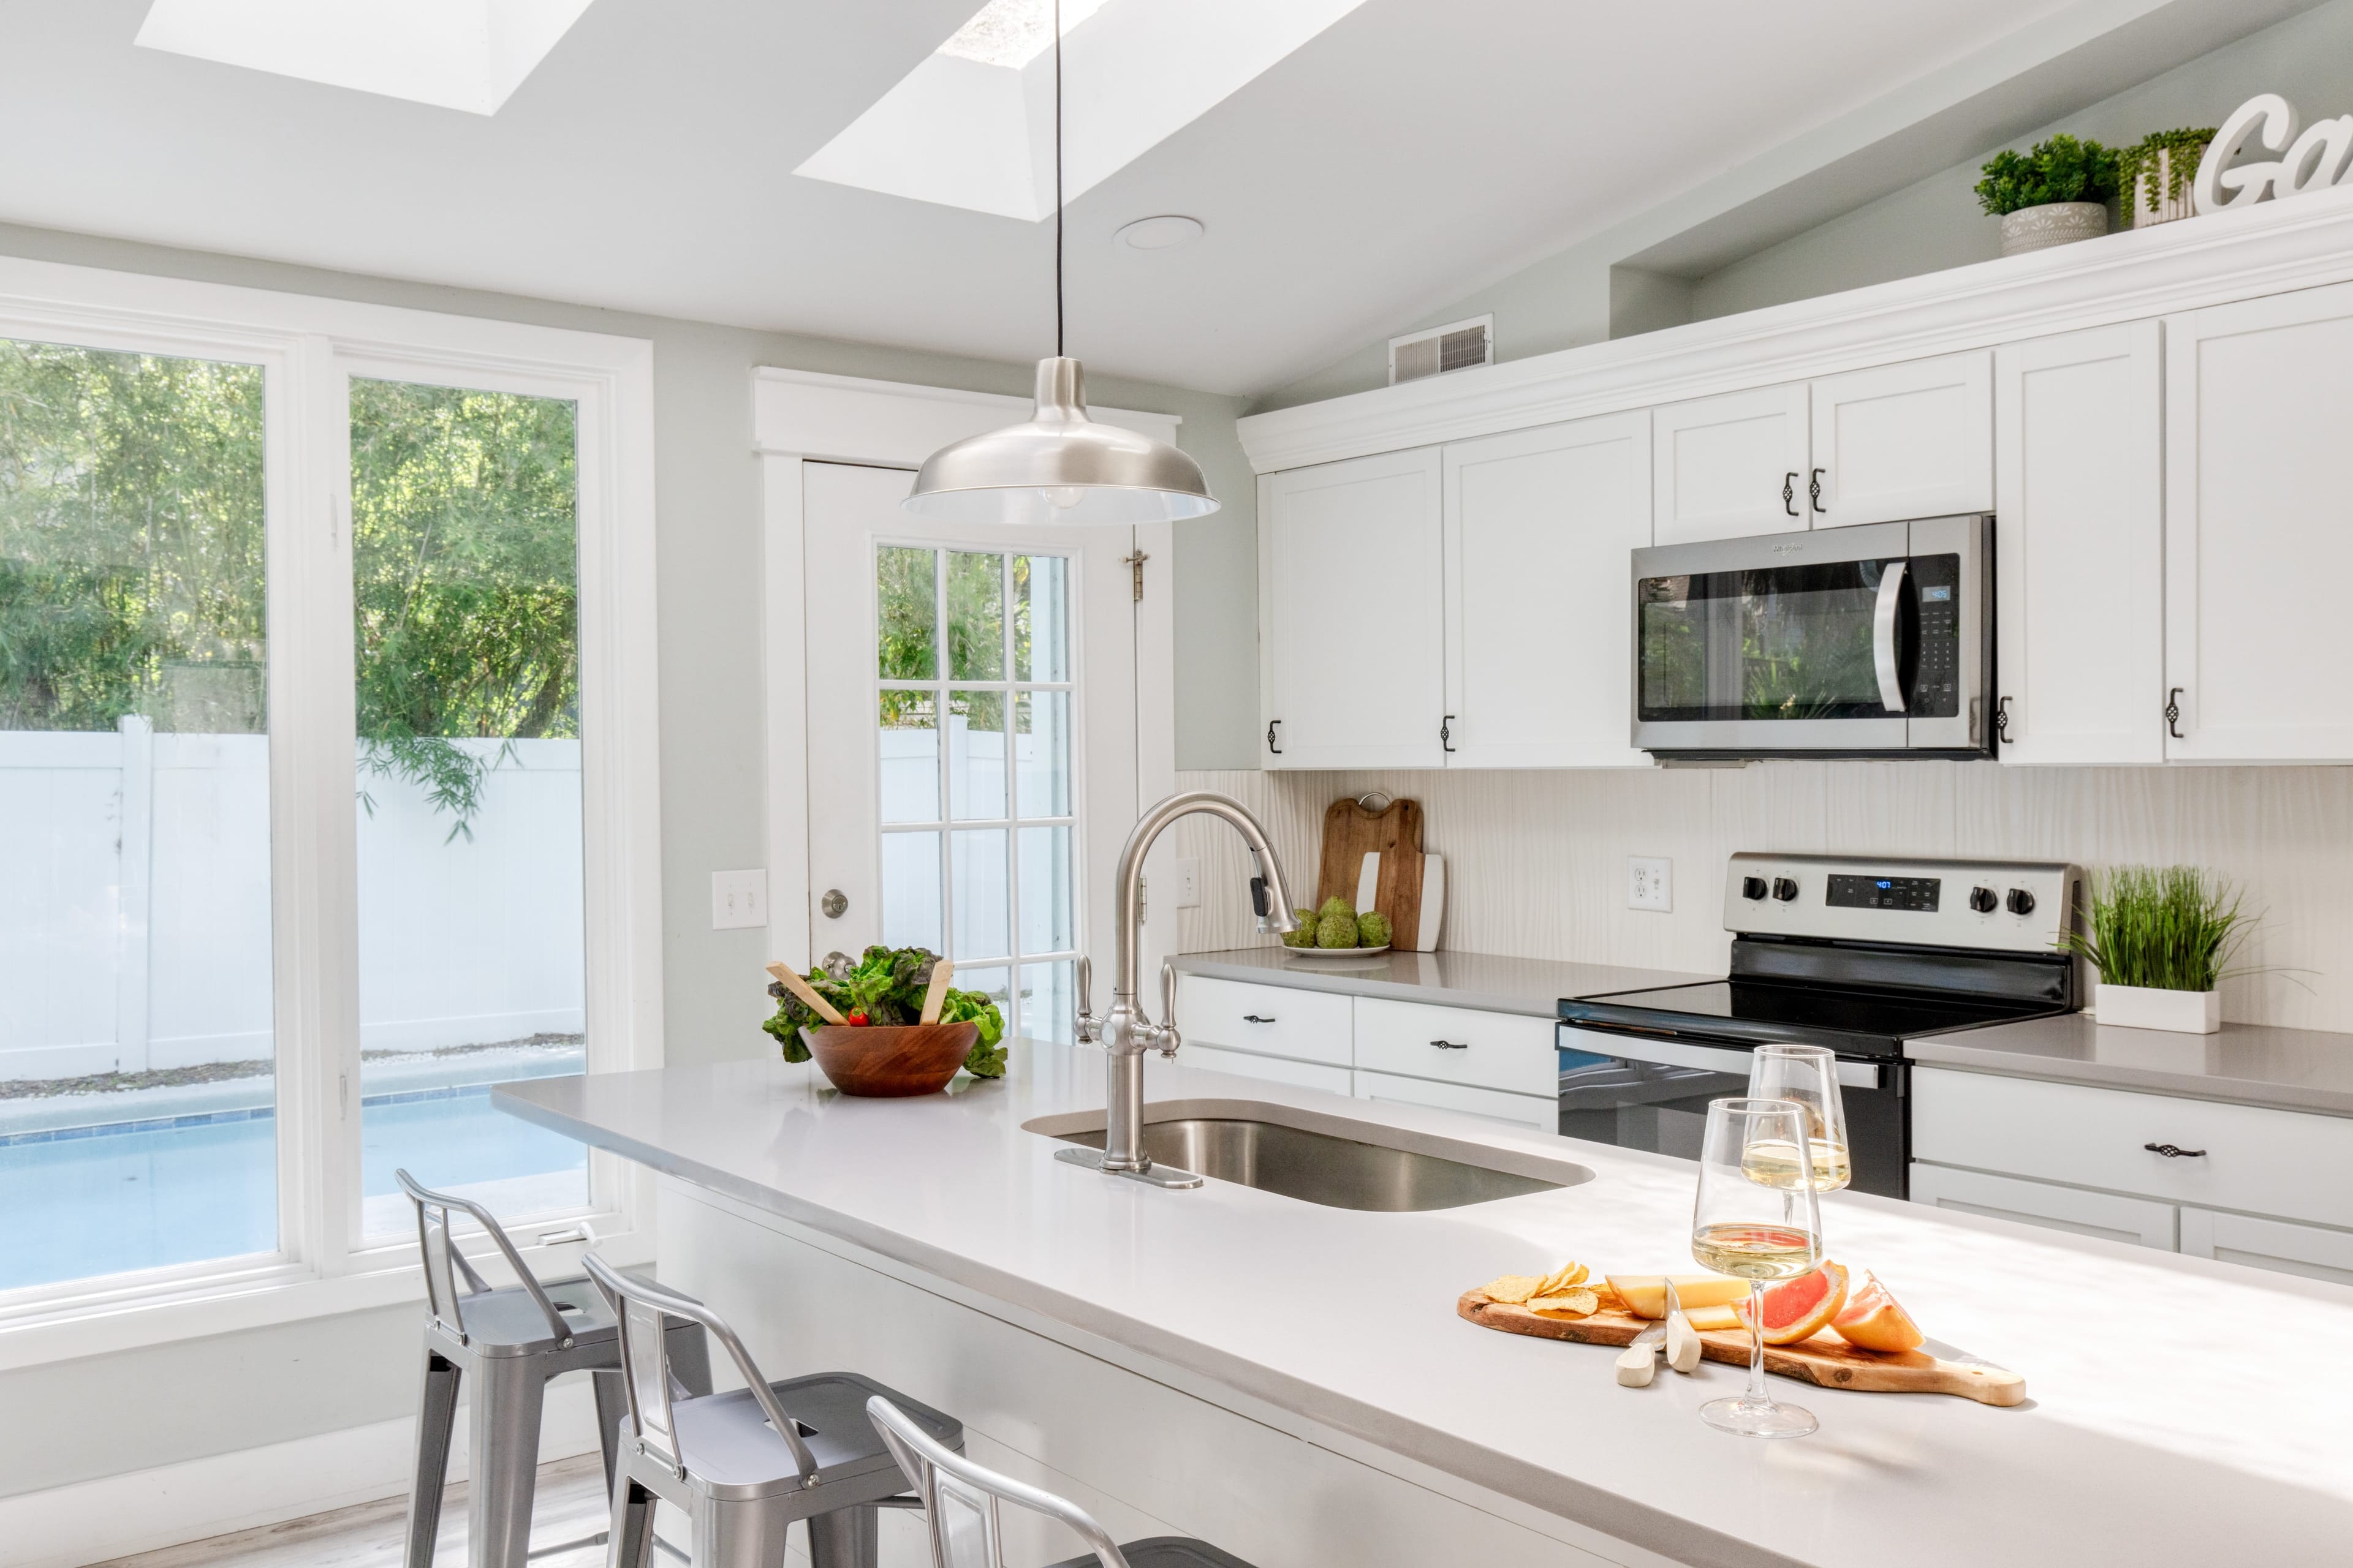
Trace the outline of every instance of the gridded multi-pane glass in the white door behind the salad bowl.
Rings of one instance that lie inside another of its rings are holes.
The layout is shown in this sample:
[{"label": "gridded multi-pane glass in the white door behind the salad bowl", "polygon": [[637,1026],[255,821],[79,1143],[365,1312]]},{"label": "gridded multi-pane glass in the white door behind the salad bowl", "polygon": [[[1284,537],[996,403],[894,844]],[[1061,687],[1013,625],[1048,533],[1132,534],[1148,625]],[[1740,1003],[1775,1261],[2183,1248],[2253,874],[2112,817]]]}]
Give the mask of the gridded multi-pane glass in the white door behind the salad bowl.
[{"label": "gridded multi-pane glass in the white door behind the salad bowl", "polygon": [[1016,1034],[1075,1011],[1071,562],[875,550],[882,940],[955,959]]}]

